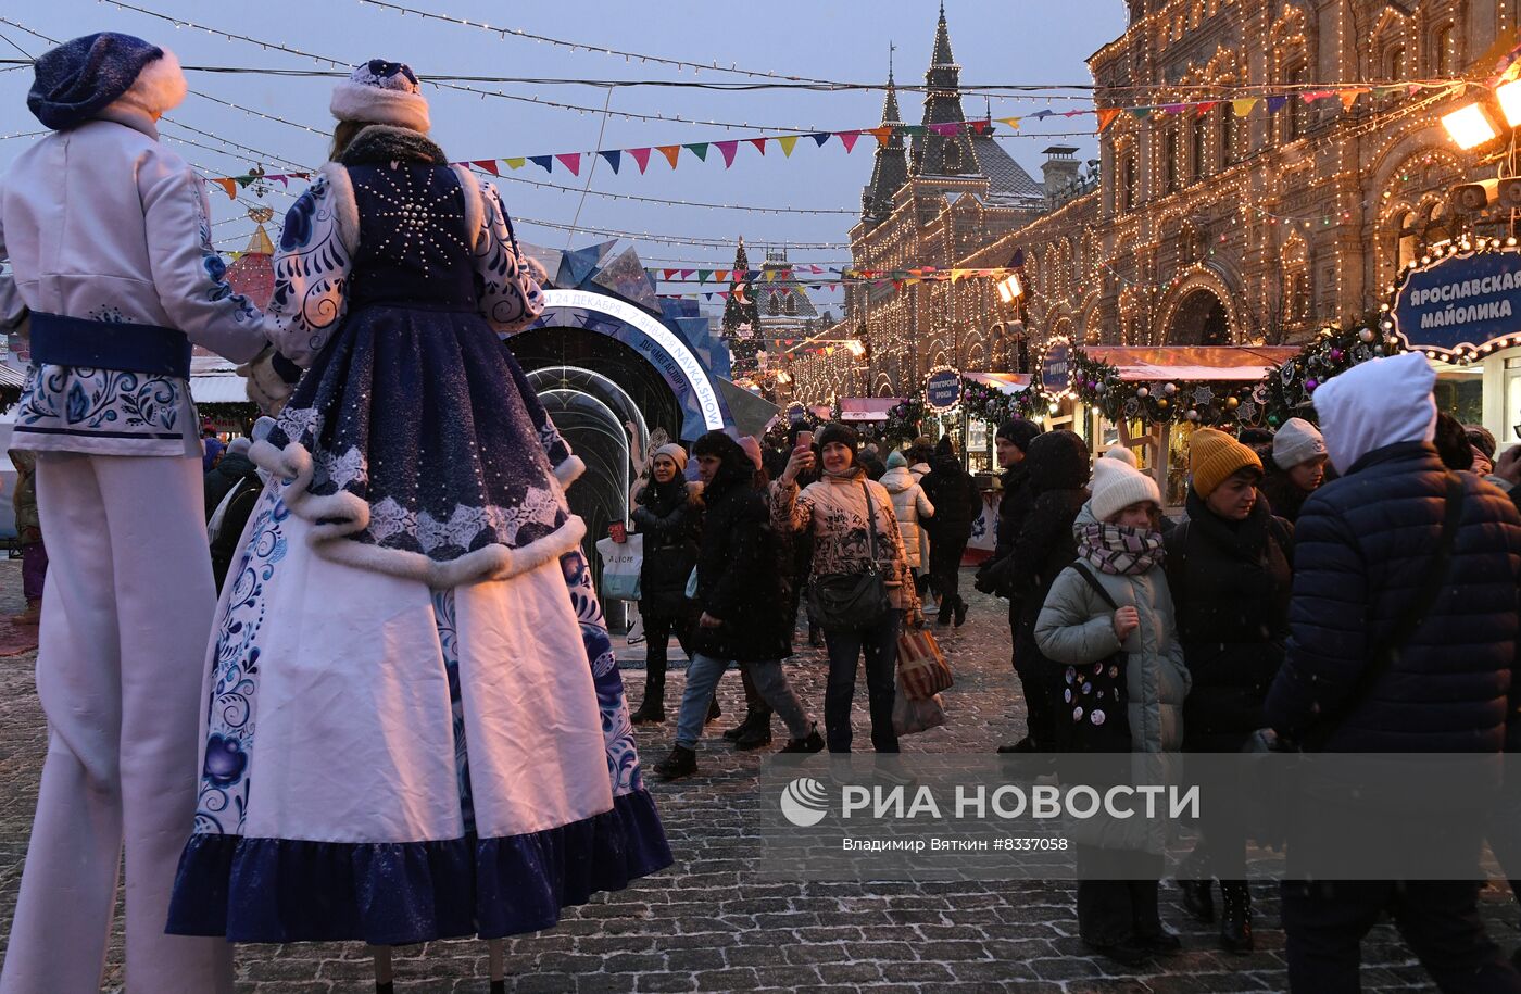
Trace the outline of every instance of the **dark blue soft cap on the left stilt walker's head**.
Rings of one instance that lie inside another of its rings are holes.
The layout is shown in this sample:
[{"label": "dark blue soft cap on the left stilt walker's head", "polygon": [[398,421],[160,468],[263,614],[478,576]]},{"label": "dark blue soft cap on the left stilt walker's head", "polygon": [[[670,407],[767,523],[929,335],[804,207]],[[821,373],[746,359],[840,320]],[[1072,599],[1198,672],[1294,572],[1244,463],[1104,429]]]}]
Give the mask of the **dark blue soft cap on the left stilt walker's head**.
[{"label": "dark blue soft cap on the left stilt walker's head", "polygon": [[[164,50],[132,35],[103,30],[44,52],[26,106],[53,131],[90,120],[137,82]],[[178,67],[176,67],[178,68]]]}]

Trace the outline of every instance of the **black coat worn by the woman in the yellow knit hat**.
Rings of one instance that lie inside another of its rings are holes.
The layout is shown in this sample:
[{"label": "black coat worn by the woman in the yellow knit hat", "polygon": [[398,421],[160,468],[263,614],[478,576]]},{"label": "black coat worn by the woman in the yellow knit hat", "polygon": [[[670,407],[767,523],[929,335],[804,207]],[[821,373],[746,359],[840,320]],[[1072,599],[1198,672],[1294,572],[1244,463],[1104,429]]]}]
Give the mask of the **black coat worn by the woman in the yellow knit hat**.
[{"label": "black coat worn by the woman in the yellow knit hat", "polygon": [[1167,537],[1167,584],[1194,678],[1183,749],[1237,752],[1264,727],[1288,637],[1293,558],[1293,526],[1265,502],[1246,521],[1226,521],[1188,491],[1188,520]]}]

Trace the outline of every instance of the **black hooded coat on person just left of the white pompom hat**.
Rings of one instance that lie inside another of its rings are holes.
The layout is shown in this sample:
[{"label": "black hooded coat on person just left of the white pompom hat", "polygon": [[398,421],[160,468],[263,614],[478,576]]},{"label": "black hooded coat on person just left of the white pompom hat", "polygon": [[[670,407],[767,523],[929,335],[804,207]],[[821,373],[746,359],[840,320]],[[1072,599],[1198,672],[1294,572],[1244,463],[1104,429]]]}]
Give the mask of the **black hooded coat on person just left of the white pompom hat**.
[{"label": "black hooded coat on person just left of the white pompom hat", "polygon": [[1057,664],[1036,647],[1036,619],[1051,584],[1077,559],[1072,523],[1088,503],[1088,445],[1072,432],[1046,432],[1030,442],[1025,462],[1034,503],[1010,552],[1008,588],[1019,597],[1015,667],[1033,672]]}]

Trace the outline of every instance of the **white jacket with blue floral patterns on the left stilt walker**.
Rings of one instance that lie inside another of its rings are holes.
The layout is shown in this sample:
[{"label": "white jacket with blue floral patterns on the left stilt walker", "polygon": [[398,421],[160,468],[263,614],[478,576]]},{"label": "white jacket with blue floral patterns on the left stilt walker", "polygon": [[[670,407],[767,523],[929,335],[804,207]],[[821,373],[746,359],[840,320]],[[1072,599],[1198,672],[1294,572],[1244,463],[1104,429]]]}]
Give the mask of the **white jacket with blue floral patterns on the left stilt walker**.
[{"label": "white jacket with blue floral patterns on the left stilt walker", "polygon": [[[184,331],[234,362],[266,339],[211,248],[205,187],[119,106],[23,152],[0,182],[0,328],[27,310]],[[111,456],[201,454],[189,383],[175,375],[33,365],[15,448]]]}]

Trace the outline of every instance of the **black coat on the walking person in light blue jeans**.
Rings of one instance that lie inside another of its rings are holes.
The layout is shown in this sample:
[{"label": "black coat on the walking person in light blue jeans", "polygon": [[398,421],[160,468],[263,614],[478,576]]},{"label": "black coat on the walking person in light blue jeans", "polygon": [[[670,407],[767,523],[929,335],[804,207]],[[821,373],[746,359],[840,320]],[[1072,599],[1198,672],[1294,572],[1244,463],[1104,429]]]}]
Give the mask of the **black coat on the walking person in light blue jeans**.
[{"label": "black coat on the walking person in light blue jeans", "polygon": [[739,444],[726,448],[703,492],[706,512],[697,558],[697,609],[722,622],[694,622],[692,649],[715,660],[782,660],[792,655],[783,608],[771,505],[756,486],[754,464]]}]

